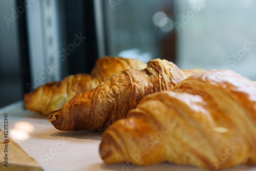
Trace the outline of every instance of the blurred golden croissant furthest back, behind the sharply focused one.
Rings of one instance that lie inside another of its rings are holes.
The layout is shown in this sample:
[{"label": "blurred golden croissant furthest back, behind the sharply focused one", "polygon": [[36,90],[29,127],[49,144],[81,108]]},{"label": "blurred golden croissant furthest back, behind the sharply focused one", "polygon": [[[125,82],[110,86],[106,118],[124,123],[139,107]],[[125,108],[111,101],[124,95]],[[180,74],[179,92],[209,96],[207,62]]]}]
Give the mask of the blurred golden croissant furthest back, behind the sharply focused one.
[{"label": "blurred golden croissant furthest back, behind the sharply focused one", "polygon": [[137,59],[105,56],[96,62],[91,74],[70,75],[62,81],[46,83],[32,93],[24,95],[27,109],[39,114],[49,115],[52,111],[60,109],[77,93],[94,89],[100,82],[124,69],[140,70],[146,63]]}]

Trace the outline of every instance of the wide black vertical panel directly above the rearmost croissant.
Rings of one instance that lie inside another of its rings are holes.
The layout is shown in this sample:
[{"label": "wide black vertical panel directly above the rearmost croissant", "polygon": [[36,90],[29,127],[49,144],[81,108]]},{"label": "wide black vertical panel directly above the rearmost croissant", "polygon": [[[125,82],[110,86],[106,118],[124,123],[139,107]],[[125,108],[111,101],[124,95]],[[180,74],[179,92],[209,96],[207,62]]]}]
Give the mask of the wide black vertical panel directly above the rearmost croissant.
[{"label": "wide black vertical panel directly above the rearmost croissant", "polygon": [[67,47],[76,35],[87,37],[68,55],[69,74],[89,73],[97,59],[97,39],[93,1],[65,1]]}]

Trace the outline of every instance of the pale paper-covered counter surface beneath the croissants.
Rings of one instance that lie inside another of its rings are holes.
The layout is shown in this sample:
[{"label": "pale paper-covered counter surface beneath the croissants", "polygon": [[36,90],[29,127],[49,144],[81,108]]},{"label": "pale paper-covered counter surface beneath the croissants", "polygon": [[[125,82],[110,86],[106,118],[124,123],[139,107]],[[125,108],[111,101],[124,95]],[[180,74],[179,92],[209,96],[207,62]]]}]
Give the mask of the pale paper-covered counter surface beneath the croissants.
[{"label": "pale paper-covered counter surface beneath the croissants", "polygon": [[[205,170],[171,163],[146,167],[124,163],[106,165],[98,152],[102,132],[58,131],[50,122],[47,122],[47,117],[24,109],[22,101],[0,109],[2,130],[4,130],[5,113],[8,114],[9,137],[33,157],[44,170]],[[256,170],[256,166],[240,165],[225,170]]]}]

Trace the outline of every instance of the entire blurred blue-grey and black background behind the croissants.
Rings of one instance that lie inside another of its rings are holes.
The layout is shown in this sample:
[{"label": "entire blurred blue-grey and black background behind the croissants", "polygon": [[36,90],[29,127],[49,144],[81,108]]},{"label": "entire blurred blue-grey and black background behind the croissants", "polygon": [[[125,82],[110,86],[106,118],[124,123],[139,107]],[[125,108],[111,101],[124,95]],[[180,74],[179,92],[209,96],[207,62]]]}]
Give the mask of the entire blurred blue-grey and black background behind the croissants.
[{"label": "entire blurred blue-grey and black background behind the croissants", "polygon": [[1,0],[0,107],[104,55],[256,81],[256,1]]}]

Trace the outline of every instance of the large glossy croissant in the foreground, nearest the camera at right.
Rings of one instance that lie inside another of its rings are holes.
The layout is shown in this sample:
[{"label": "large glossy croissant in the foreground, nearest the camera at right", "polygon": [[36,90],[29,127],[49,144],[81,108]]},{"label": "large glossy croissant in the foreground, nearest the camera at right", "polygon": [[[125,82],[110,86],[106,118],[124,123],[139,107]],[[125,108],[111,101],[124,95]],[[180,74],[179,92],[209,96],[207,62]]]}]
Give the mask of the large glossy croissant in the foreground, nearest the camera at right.
[{"label": "large glossy croissant in the foreground, nearest the camera at right", "polygon": [[103,133],[99,153],[109,164],[167,161],[216,170],[256,164],[255,144],[254,82],[211,70],[146,96]]}]

